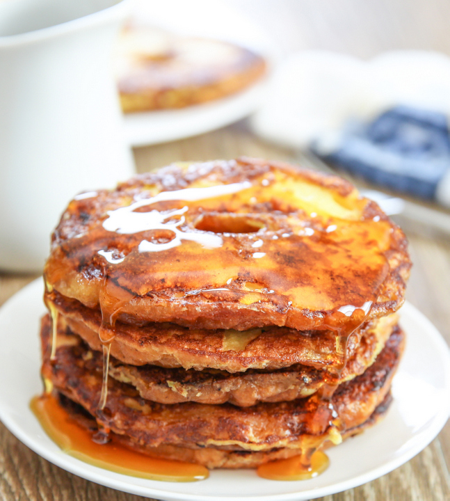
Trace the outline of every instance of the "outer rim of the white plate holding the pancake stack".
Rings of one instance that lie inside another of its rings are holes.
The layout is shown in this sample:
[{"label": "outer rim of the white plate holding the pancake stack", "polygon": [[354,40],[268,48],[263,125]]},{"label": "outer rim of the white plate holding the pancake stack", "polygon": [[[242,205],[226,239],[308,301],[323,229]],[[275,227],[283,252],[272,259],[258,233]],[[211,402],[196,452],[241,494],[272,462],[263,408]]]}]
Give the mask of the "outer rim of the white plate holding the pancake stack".
[{"label": "outer rim of the white plate holding the pancake stack", "polygon": [[[41,291],[43,291],[42,277],[33,280],[31,283],[29,283],[25,287],[22,287],[22,289],[20,289],[12,297],[10,297],[10,299],[8,299],[0,308],[0,328],[3,321],[3,316],[8,315],[8,310],[10,310],[10,308],[14,308],[15,303],[19,302],[22,296],[25,296],[26,294],[33,294],[37,296],[38,292]],[[45,311],[43,304],[42,311]],[[435,328],[432,322],[408,301],[405,301],[405,304],[401,308],[400,315],[401,317],[410,317],[412,320],[417,321],[427,329],[431,339],[433,340],[433,344],[435,344],[437,349],[440,349],[440,356],[442,357],[440,360],[442,360],[442,367],[444,369],[444,388],[450,388],[450,349],[447,345],[447,342],[444,340],[439,331],[437,331],[437,328]],[[408,350],[408,344],[406,349]],[[345,491],[348,488],[355,488],[367,482],[371,482],[373,479],[381,477],[382,475],[386,475],[392,470],[410,461],[410,459],[419,454],[421,450],[424,450],[424,448],[431,443],[431,441],[437,436],[437,434],[440,433],[442,427],[444,427],[444,424],[449,418],[449,414],[450,396],[447,399],[447,402],[443,402],[442,406],[440,406],[439,408],[439,411],[433,416],[432,424],[429,425],[425,430],[420,431],[422,440],[416,441],[416,443],[408,447],[408,450],[403,452],[403,454],[400,454],[399,456],[383,463],[376,468],[372,468],[367,472],[361,473],[356,477],[346,479],[342,482],[335,482],[334,484],[330,484],[328,486],[313,488],[309,491],[298,491],[297,493],[289,492],[275,495],[250,495],[245,496],[242,499],[246,501],[257,501],[264,499],[270,499],[271,501],[316,499],[321,496],[339,493],[341,491]],[[15,422],[13,416],[8,415],[8,411],[4,408],[3,402],[1,401],[1,395],[0,420],[18,440],[20,440],[22,443],[24,443],[24,445],[33,450],[33,452],[43,457],[50,463],[53,463],[54,465],[59,466],[60,468],[63,468],[64,470],[71,472],[74,475],[78,475],[81,478],[87,479],[90,482],[95,482],[96,484],[101,484],[103,486],[115,488],[117,490],[131,494],[143,495],[145,497],[156,496],[157,498],[170,501],[235,501],[236,499],[238,499],[236,497],[230,496],[211,496],[203,495],[200,493],[178,493],[173,491],[164,491],[157,487],[154,488],[138,486],[136,484],[133,484],[133,482],[130,482],[130,479],[133,479],[134,477],[127,477],[127,475],[115,474],[114,476],[117,476],[118,478],[102,477],[102,472],[105,471],[102,470],[102,468],[97,468],[95,466],[89,465],[88,463],[83,463],[83,461],[75,459],[73,456],[66,454],[62,450],[53,452],[49,450],[48,447],[42,446],[39,443],[38,439],[35,439],[29,434],[26,434],[26,431],[24,431],[22,427]]]}]

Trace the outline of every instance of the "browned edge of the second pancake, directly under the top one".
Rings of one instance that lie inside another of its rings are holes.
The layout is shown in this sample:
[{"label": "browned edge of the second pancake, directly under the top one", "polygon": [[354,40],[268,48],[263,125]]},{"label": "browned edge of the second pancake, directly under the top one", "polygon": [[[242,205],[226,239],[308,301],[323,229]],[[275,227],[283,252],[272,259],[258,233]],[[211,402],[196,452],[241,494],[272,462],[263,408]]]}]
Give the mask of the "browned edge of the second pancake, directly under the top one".
[{"label": "browned edge of the second pancake, directly under the top one", "polygon": [[[67,301],[61,296],[54,296],[52,305],[60,312],[60,330],[69,326],[92,349],[102,351],[99,340],[102,317],[98,310],[86,308],[76,301]],[[363,324],[348,340],[347,357],[353,357],[362,335],[366,333],[376,333],[383,346],[395,321],[393,315]],[[150,363],[161,367],[212,368],[227,372],[275,370],[296,363],[316,369],[332,369],[341,363],[336,353],[336,333],[332,331],[295,331],[273,326],[260,331],[246,346],[235,351],[224,349],[227,331],[223,329],[206,331],[175,324],[131,326],[117,322],[111,354],[131,365]],[[234,335],[239,337],[240,333]],[[372,347],[375,349],[374,344]]]}]

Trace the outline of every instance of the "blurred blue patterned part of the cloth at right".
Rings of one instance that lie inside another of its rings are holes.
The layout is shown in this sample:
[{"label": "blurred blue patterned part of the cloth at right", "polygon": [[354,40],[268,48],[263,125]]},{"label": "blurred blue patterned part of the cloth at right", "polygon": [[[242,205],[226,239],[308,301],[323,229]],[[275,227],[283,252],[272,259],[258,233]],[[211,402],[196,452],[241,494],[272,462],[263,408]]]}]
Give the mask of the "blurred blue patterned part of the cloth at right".
[{"label": "blurred blue patterned part of the cloth at right", "polygon": [[317,139],[312,151],[355,176],[435,200],[450,173],[447,116],[396,106],[367,123],[353,122],[333,141]]}]

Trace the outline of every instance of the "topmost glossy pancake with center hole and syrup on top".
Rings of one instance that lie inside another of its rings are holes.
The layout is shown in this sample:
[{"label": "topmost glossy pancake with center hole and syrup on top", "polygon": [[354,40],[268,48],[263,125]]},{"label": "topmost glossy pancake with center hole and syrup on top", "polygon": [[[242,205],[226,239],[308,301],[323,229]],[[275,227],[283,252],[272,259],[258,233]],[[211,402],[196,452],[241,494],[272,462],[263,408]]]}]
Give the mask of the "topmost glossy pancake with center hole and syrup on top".
[{"label": "topmost glossy pancake with center hole and syrup on top", "polygon": [[351,184],[241,158],[75,197],[45,280],[111,324],[350,331],[401,306],[409,271],[405,235]]}]

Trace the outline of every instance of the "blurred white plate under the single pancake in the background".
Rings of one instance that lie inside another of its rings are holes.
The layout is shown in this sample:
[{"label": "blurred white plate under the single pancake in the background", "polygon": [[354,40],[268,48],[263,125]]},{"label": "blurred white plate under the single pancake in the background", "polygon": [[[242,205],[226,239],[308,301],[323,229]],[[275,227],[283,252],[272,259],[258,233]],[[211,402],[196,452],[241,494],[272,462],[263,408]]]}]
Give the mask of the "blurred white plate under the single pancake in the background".
[{"label": "blurred white plate under the single pancake in the background", "polygon": [[[177,15],[173,15],[173,13]],[[222,0],[135,0],[134,16],[141,23],[186,36],[216,38],[247,47],[271,62],[277,49],[239,8]],[[262,105],[264,79],[229,97],[184,109],[126,113],[124,137],[131,146],[175,141],[225,127]]]}]

